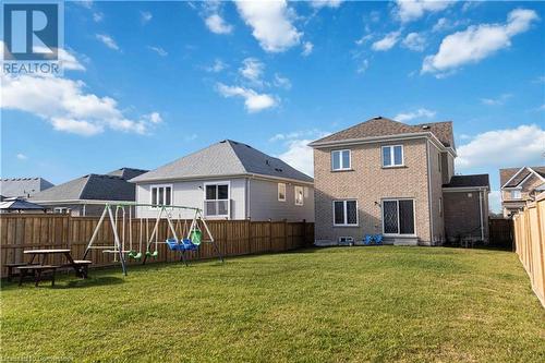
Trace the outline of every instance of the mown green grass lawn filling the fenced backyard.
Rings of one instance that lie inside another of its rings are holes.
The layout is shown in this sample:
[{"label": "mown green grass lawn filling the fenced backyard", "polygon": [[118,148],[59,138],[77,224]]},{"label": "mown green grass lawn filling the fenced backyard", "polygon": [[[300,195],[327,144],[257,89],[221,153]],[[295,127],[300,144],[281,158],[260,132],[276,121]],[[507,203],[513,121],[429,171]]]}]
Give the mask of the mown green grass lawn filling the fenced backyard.
[{"label": "mown green grass lawn filling the fenced backyard", "polygon": [[344,247],[2,287],[1,356],[74,361],[544,362],[509,252]]}]

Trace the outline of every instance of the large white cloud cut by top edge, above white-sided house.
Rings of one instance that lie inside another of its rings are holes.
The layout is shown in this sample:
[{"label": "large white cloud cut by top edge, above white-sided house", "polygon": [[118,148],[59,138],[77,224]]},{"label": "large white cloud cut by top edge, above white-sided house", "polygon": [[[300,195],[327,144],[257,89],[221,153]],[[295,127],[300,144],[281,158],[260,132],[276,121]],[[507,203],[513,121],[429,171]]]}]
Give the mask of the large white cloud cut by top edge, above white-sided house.
[{"label": "large white cloud cut by top edge, above white-sided house", "polygon": [[268,52],[281,52],[299,44],[302,33],[291,23],[293,10],[284,0],[237,1],[239,14]]}]

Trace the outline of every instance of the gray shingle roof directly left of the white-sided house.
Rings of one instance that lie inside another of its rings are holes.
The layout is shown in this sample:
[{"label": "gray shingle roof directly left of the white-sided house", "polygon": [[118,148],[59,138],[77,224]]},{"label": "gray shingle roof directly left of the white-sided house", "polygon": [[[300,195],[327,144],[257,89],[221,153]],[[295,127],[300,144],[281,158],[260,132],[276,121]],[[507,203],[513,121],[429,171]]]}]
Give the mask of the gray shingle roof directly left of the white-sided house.
[{"label": "gray shingle roof directly left of the white-sided house", "polygon": [[135,201],[135,185],[117,176],[88,174],[31,197],[40,201]]}]

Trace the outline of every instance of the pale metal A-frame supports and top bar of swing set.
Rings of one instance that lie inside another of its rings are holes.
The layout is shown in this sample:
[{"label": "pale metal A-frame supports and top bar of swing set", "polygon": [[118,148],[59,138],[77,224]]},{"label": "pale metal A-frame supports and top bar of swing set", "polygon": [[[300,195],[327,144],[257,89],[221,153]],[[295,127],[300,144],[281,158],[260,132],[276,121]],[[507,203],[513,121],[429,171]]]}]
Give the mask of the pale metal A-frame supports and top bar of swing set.
[{"label": "pale metal A-frame supports and top bar of swing set", "polygon": [[[190,239],[192,230],[194,228],[198,228],[198,221],[201,220],[203,222],[203,226],[204,226],[206,232],[208,233],[208,237],[209,237],[209,241],[203,241],[203,243],[204,242],[211,243],[214,252],[216,252],[219,261],[221,261],[223,263],[223,256],[221,255],[221,253],[220,253],[220,251],[219,251],[219,249],[214,240],[214,235],[211,234],[210,229],[208,228],[208,225],[206,223],[206,219],[203,216],[203,210],[199,208],[186,207],[186,206],[175,206],[175,205],[154,205],[154,204],[126,203],[126,202],[125,203],[111,202],[111,203],[97,203],[97,204],[99,204],[99,205],[104,204],[105,208],[104,208],[104,211],[100,216],[100,219],[98,220],[97,227],[93,231],[93,235],[89,240],[89,243],[87,244],[87,247],[85,249],[85,253],[83,254],[83,259],[85,259],[85,257],[87,256],[87,254],[89,253],[90,250],[113,249],[110,252],[114,253],[114,256],[119,256],[119,262],[121,263],[121,268],[123,270],[123,275],[126,276],[126,258],[125,258],[126,251],[123,251],[124,240],[123,240],[123,244],[122,244],[121,240],[119,238],[119,233],[118,233],[118,221],[117,221],[117,218],[114,218],[114,216],[113,216],[112,208],[113,207],[116,207],[116,208],[120,208],[120,207],[134,207],[134,208],[136,208],[136,207],[153,207],[153,208],[157,208],[159,211],[157,215],[157,219],[155,221],[154,229],[152,231],[152,235],[149,235],[149,239],[146,243],[146,251],[149,251],[150,245],[154,243],[154,239],[156,239],[156,235],[158,234],[159,222],[164,216],[167,219],[167,223],[168,223],[168,227],[170,229],[170,232],[172,233],[174,239],[177,241],[179,241],[174,226],[172,225],[171,216],[167,209],[189,209],[189,210],[194,210],[195,214],[194,214],[193,220],[191,222],[191,227],[187,231],[186,238]],[[98,232],[100,231],[100,227],[102,226],[102,223],[107,217],[110,220],[111,229],[113,231],[113,246],[95,246],[94,244],[95,244],[96,239],[98,237]],[[124,219],[123,219],[123,229],[124,228],[125,228],[125,226],[124,226]],[[147,228],[147,225],[146,225],[146,228]],[[130,231],[132,234],[132,226],[130,226]],[[131,242],[132,242],[132,240],[131,240]],[[157,243],[166,243],[166,242],[155,241],[155,243],[157,244]],[[146,259],[147,259],[147,254],[144,255],[144,259],[142,262],[143,265],[146,263]],[[180,262],[183,262],[185,264],[185,266],[189,265],[187,259],[185,258],[185,251],[183,251],[183,250],[181,251]]]}]

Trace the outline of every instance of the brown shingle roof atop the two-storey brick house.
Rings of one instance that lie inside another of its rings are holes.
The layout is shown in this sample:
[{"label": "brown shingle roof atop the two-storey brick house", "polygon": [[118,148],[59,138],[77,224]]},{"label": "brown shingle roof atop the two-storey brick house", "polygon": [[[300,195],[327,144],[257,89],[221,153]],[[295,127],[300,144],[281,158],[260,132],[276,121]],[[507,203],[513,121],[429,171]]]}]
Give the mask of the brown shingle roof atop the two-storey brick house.
[{"label": "brown shingle roof atop the two-storey brick house", "polygon": [[327,143],[364,137],[393,136],[400,134],[412,134],[419,132],[432,132],[445,146],[455,147],[455,137],[452,133],[452,122],[429,122],[416,125],[410,125],[393,121],[383,117],[376,117],[365,122],[359,123],[346,130],[341,130],[329,136],[319,138],[313,143]]}]

